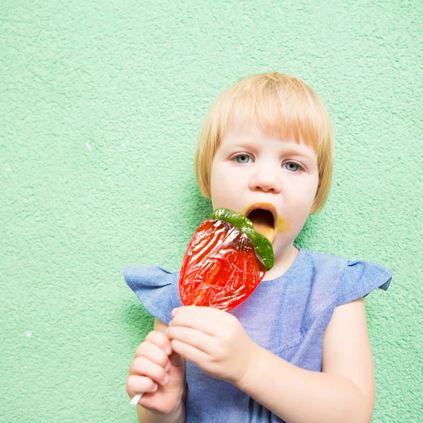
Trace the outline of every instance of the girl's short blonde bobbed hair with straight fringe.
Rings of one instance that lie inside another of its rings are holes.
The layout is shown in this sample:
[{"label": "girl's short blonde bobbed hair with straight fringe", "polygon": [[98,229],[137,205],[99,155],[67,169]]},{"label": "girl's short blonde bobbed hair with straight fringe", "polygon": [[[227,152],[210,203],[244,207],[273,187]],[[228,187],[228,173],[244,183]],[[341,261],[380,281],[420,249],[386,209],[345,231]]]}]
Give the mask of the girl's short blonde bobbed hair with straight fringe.
[{"label": "girl's short blonde bobbed hair with straight fringe", "polygon": [[331,119],[321,99],[304,81],[271,72],[251,75],[223,91],[204,117],[195,154],[195,176],[210,198],[212,161],[228,121],[256,123],[266,136],[303,140],[314,148],[319,185],[311,214],[324,207],[331,188],[334,142]]}]

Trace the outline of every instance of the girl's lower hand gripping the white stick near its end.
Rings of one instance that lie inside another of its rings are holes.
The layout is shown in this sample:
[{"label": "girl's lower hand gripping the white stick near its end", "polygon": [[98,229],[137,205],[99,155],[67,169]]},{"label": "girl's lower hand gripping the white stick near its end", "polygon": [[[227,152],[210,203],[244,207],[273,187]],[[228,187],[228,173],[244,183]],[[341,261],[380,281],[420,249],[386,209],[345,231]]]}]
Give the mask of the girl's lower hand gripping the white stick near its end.
[{"label": "girl's lower hand gripping the white stick near its end", "polygon": [[185,384],[185,364],[173,352],[167,336],[149,332],[130,363],[126,391],[130,398],[143,393],[138,404],[168,415],[180,405]]}]

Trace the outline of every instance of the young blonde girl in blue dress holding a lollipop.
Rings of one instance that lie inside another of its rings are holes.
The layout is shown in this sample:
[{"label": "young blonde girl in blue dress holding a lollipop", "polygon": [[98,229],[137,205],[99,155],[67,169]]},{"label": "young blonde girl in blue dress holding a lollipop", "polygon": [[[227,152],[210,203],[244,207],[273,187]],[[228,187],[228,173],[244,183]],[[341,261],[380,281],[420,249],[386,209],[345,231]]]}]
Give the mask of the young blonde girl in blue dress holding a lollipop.
[{"label": "young blonde girl in blue dress holding a lollipop", "polygon": [[213,209],[247,214],[253,224],[271,216],[274,267],[231,312],[181,307],[178,271],[125,267],[155,317],[126,383],[131,398],[143,393],[140,422],[370,422],[363,298],[386,290],[392,272],[294,243],[307,216],[324,207],[332,168],[330,118],[302,80],[252,75],[212,104],[195,159],[200,190]]}]

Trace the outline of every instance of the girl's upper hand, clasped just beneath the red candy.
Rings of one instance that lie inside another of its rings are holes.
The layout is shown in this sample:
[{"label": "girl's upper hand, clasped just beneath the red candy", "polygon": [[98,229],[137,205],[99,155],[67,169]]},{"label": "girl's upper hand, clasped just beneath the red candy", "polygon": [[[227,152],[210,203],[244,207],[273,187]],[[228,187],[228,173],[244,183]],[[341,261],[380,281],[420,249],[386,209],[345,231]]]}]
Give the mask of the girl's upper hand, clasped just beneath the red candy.
[{"label": "girl's upper hand, clasped just beneath the red candy", "polygon": [[235,386],[260,353],[238,319],[212,307],[178,307],[166,330],[173,350],[215,379]]}]

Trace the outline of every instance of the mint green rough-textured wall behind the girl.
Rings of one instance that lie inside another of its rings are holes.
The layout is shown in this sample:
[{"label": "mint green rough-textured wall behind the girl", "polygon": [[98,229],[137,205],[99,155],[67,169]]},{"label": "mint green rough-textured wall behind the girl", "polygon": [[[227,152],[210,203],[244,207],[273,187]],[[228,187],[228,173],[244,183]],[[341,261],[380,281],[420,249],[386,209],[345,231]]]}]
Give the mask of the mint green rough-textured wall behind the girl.
[{"label": "mint green rough-textured wall behind the girl", "polygon": [[1,422],[135,422],[152,318],[123,266],[176,270],[211,210],[193,155],[221,90],[297,75],[333,118],[303,247],[391,267],[366,298],[373,422],[422,422],[422,26],[415,1],[0,4]]}]

